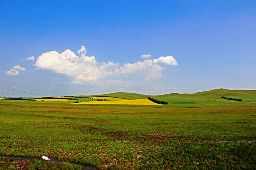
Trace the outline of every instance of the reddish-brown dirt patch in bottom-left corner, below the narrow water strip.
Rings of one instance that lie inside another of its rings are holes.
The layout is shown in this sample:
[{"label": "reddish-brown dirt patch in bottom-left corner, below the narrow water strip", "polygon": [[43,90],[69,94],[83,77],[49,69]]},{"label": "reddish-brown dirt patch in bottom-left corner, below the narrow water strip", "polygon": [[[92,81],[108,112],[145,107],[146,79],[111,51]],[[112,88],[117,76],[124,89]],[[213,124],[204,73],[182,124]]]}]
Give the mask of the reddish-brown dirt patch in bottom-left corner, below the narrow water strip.
[{"label": "reddish-brown dirt patch in bottom-left corner, below the narrow water strip", "polygon": [[[8,168],[10,166],[15,166],[17,169],[30,169],[28,166],[31,165],[33,162],[29,160],[11,160],[6,158],[0,158],[0,166]],[[16,169],[15,168],[15,169]]]}]

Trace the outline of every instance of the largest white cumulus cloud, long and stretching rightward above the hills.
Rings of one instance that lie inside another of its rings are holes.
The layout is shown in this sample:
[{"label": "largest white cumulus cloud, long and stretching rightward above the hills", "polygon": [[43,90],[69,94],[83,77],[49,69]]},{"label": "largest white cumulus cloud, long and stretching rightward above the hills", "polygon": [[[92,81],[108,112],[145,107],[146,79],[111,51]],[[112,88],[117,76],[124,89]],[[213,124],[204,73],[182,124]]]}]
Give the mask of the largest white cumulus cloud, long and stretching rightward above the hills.
[{"label": "largest white cumulus cloud, long and stretching rightward above the hills", "polygon": [[[67,75],[72,79],[73,83],[84,83],[96,82],[99,79],[104,79],[112,75],[120,76],[122,74],[136,72],[143,72],[143,75],[145,75],[143,77],[144,80],[161,77],[163,67],[159,64],[164,62],[162,60],[166,60],[160,57],[153,59],[153,61],[148,59],[136,63],[125,63],[120,66],[119,63],[113,63],[111,61],[99,63],[93,55],[86,55],[87,51],[84,46],[77,52],[80,56],[77,56],[70,49],[66,49],[62,53],[58,53],[57,51],[42,53],[42,55],[37,58],[34,66],[36,70],[46,69]],[[168,65],[177,65],[177,62],[169,62]]]}]

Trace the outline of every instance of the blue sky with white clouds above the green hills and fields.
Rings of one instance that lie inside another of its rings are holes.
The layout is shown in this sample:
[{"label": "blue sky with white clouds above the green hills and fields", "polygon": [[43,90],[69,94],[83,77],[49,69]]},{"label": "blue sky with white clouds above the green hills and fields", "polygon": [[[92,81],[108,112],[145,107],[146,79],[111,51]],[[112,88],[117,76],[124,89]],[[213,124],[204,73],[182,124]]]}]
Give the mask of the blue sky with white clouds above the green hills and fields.
[{"label": "blue sky with white clouds above the green hills and fields", "polygon": [[254,0],[2,0],[0,96],[256,89],[255,8]]}]

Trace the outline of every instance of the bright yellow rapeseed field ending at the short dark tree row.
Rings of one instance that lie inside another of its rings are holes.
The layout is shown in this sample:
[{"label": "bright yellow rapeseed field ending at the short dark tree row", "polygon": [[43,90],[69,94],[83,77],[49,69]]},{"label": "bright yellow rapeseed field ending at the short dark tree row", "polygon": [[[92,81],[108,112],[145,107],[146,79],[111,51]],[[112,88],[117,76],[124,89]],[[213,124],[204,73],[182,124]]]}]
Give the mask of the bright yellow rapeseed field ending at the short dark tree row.
[{"label": "bright yellow rapeseed field ending at the short dark tree row", "polygon": [[118,101],[87,101],[78,104],[108,104],[108,105],[159,105],[148,99],[118,100]]}]

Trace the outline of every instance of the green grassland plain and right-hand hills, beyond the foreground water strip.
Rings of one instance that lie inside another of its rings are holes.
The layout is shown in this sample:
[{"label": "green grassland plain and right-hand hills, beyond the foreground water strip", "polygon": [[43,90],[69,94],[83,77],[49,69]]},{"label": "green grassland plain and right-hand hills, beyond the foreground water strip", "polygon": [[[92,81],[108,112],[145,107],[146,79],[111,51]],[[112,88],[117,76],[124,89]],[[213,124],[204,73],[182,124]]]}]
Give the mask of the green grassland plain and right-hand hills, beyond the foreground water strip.
[{"label": "green grassland plain and right-hand hills, beyond the foreground water strip", "polygon": [[100,169],[255,169],[255,94],[218,89],[153,96],[168,105],[0,100],[0,155],[48,156]]}]

